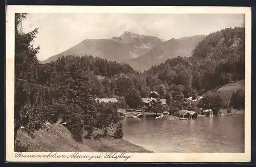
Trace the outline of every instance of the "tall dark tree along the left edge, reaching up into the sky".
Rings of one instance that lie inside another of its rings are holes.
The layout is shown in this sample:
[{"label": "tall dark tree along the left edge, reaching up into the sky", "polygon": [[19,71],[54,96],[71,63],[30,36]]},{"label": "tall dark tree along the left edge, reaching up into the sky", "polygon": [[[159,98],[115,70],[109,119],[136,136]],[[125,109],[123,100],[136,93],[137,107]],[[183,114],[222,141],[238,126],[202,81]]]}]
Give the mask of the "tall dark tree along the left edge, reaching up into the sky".
[{"label": "tall dark tree along the left edge, reaching up into the sky", "polygon": [[37,85],[39,46],[31,42],[38,29],[25,34],[20,23],[27,13],[15,13],[15,94],[14,94],[14,140],[20,126],[32,134],[44,126],[51,110],[51,90]]}]

